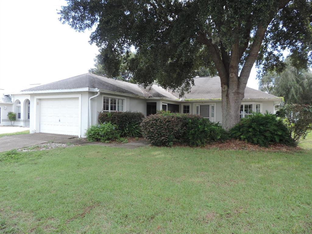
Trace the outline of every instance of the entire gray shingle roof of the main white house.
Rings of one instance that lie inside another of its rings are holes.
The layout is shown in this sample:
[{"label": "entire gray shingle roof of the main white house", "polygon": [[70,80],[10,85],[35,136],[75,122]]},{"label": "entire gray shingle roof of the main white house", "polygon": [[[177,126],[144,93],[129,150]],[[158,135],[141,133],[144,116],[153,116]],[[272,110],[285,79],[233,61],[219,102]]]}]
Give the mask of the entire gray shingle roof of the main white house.
[{"label": "entire gray shingle roof of the main white house", "polygon": [[[185,94],[185,99],[220,99],[221,85],[218,76],[213,77],[196,77],[195,85],[191,88],[190,93]],[[152,85],[146,89],[137,84],[132,84],[122,80],[115,80],[96,74],[86,73],[74,76],[65,80],[59,80],[46,85],[39,85],[22,91],[44,91],[44,90],[64,90],[77,88],[97,88],[119,93],[137,95],[146,98],[164,97],[178,99],[178,93],[170,93],[159,85]],[[246,87],[245,99],[253,98],[277,98],[274,95]]]}]

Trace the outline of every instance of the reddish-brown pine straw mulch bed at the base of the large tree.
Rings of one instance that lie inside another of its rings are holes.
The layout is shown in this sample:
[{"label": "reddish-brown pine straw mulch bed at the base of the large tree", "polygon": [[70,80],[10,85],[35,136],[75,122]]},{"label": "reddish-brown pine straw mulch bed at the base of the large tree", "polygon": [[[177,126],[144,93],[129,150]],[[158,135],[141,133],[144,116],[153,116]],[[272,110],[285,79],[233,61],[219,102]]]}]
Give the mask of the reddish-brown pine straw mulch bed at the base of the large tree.
[{"label": "reddish-brown pine straw mulch bed at the base of the large tree", "polygon": [[224,142],[215,142],[207,144],[205,149],[222,149],[222,150],[249,150],[249,151],[266,151],[266,152],[297,152],[302,150],[300,147],[287,146],[283,144],[272,144],[268,147],[261,147],[247,143],[245,141],[231,139]]}]

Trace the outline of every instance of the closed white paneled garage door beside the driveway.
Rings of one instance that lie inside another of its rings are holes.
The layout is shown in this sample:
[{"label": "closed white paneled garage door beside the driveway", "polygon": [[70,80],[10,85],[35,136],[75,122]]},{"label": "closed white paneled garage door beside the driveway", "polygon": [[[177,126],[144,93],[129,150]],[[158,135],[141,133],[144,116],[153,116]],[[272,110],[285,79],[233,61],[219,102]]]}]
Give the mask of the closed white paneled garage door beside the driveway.
[{"label": "closed white paneled garage door beside the driveway", "polygon": [[41,99],[40,132],[78,135],[78,98]]}]

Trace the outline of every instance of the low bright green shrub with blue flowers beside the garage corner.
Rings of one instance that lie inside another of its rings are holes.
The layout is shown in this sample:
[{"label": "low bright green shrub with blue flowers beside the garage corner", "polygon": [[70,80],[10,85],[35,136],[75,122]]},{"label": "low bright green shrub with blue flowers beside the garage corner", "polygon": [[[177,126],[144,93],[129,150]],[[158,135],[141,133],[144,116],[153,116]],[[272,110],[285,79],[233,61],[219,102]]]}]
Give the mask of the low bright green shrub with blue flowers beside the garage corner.
[{"label": "low bright green shrub with blue flowers beside the garage corner", "polygon": [[86,132],[88,141],[109,141],[119,139],[120,132],[116,124],[110,122],[91,126]]}]

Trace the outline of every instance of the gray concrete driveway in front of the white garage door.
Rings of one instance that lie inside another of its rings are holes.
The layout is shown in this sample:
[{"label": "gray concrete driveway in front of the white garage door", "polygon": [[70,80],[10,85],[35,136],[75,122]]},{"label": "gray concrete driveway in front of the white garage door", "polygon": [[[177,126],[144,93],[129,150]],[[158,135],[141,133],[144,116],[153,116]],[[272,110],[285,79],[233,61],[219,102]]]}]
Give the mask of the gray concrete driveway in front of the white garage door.
[{"label": "gray concrete driveway in front of the white garage door", "polygon": [[42,144],[49,141],[59,143],[69,142],[77,144],[78,143],[77,141],[80,141],[79,139],[74,139],[77,137],[78,136],[50,134],[50,133],[33,133],[33,134],[0,137],[0,152]]}]

